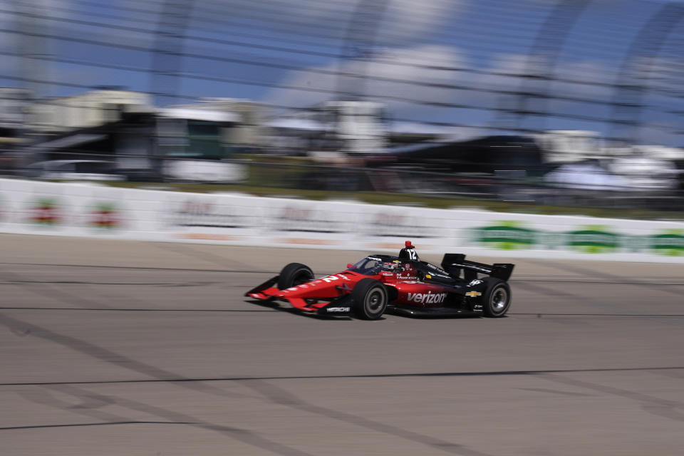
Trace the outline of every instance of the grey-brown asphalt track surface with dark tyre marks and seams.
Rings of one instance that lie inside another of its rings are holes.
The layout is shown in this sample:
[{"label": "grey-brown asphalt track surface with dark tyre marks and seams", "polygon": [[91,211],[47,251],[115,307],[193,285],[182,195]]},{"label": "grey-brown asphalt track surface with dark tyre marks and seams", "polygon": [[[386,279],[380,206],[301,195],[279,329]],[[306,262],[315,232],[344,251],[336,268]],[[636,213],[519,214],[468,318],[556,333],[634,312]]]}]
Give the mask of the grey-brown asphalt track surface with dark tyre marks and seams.
[{"label": "grey-brown asphalt track surface with dark tyre marks and seams", "polygon": [[2,455],[683,454],[684,266],[518,260],[507,318],[359,321],[242,294],[362,252],[0,247]]}]

